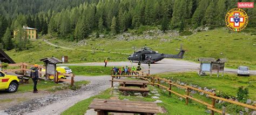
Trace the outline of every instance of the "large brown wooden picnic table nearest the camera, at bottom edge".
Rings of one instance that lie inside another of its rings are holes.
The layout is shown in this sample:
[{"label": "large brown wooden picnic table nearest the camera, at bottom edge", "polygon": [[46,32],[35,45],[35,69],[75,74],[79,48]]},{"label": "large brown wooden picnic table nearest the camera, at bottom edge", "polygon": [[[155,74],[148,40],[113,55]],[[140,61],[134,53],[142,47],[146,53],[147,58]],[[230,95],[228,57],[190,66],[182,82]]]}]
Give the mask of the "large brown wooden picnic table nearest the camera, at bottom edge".
[{"label": "large brown wooden picnic table nearest the camera, at bottom edge", "polygon": [[129,100],[93,99],[89,109],[94,109],[98,115],[115,113],[137,113],[151,115],[159,113],[159,107],[153,102],[134,102]]}]

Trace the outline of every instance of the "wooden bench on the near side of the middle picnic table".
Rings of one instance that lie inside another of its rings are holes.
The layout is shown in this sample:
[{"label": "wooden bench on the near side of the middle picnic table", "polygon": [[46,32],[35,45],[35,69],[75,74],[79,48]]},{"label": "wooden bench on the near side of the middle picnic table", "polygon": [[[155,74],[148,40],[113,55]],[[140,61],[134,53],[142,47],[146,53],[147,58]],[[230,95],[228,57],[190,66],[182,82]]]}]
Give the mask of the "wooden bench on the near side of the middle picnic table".
[{"label": "wooden bench on the near side of the middle picnic table", "polygon": [[146,88],[135,88],[135,87],[124,87],[124,86],[120,86],[118,90],[122,91],[124,96],[128,96],[127,91],[141,92],[143,97],[146,97],[147,93],[150,92],[150,90]]}]

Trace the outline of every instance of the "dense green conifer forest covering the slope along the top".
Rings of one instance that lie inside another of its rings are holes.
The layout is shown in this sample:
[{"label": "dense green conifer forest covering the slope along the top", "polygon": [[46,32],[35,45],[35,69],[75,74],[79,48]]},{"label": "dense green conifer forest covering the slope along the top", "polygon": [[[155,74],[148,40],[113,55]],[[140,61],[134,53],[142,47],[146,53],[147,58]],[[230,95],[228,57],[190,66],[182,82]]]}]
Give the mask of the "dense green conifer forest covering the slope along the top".
[{"label": "dense green conifer forest covering the slope along the top", "polygon": [[[92,32],[122,33],[141,25],[160,25],[161,30],[225,26],[225,14],[237,2],[254,0],[0,0],[0,43],[10,50],[26,49],[28,40],[12,39],[22,25],[45,35],[56,33],[68,40],[82,40]],[[248,26],[256,26],[256,9],[244,9]],[[17,40],[16,43],[12,40]]]}]

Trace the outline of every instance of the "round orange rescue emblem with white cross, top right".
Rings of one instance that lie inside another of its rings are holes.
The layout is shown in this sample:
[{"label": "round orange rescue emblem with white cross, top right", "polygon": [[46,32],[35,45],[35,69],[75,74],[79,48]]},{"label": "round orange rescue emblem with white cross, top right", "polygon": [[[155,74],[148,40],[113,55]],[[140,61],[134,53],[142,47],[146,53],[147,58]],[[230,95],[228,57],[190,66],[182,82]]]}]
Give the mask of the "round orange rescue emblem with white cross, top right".
[{"label": "round orange rescue emblem with white cross, top right", "polygon": [[247,13],[239,8],[231,9],[225,16],[227,28],[233,31],[244,30],[248,24],[249,18]]}]

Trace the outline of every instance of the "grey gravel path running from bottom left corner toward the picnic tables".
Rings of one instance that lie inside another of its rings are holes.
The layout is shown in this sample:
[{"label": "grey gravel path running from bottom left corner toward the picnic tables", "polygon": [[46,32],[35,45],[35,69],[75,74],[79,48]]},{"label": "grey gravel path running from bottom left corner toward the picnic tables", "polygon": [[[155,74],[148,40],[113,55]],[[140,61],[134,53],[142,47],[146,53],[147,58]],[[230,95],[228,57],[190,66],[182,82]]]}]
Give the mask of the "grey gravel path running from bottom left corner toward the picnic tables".
[{"label": "grey gravel path running from bottom left corner toward the picnic tables", "polygon": [[12,106],[0,114],[60,114],[81,100],[97,95],[100,91],[109,88],[110,76],[76,76],[75,80],[89,80],[91,83],[77,91],[68,90],[57,94],[46,94],[44,97],[29,100],[28,102]]}]

